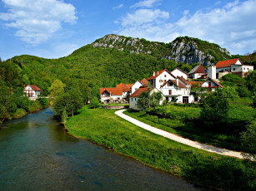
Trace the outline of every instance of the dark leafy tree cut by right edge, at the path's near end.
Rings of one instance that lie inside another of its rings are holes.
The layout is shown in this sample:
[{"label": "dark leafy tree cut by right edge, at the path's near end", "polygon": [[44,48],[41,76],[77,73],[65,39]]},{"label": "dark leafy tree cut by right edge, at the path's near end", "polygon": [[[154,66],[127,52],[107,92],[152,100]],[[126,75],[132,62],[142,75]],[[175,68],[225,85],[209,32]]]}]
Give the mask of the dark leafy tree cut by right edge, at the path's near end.
[{"label": "dark leafy tree cut by right edge, at the path's near end", "polygon": [[245,159],[256,160],[256,120],[246,126],[246,130],[241,133],[241,142],[245,153]]}]

